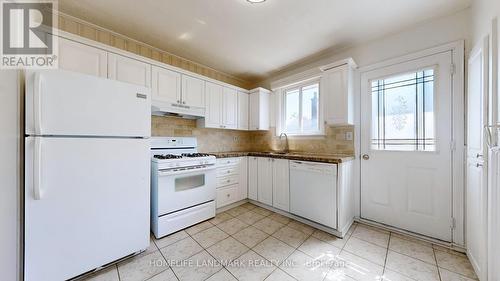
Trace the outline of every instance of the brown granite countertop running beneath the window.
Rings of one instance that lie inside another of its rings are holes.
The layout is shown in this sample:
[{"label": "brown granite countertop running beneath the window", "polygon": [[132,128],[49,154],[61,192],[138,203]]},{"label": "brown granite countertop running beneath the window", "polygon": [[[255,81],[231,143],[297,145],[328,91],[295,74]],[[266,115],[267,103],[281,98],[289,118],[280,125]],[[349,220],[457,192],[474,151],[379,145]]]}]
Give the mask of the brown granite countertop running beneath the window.
[{"label": "brown granite countertop running beneath the window", "polygon": [[354,156],[346,154],[317,154],[308,152],[252,152],[252,151],[227,151],[227,152],[212,152],[209,153],[217,158],[231,158],[243,156],[256,156],[256,157],[269,157],[278,159],[298,160],[298,161],[311,161],[340,164],[354,160]]}]

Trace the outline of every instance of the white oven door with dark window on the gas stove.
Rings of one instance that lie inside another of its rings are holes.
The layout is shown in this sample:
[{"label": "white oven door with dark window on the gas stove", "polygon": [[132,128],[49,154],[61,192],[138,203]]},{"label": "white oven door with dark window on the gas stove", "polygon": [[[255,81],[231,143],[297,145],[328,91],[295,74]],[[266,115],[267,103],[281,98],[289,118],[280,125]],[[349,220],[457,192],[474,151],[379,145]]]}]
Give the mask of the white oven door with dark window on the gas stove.
[{"label": "white oven door with dark window on the gas stove", "polygon": [[158,172],[160,216],[215,200],[215,165]]}]

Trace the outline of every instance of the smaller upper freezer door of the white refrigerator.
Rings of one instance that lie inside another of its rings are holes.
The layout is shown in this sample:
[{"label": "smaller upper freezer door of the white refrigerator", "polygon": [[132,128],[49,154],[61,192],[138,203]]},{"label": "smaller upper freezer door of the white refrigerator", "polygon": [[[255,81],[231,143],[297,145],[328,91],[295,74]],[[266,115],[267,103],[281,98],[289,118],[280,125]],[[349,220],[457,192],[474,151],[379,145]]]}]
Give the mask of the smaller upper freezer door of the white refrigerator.
[{"label": "smaller upper freezer door of the white refrigerator", "polygon": [[81,73],[26,73],[26,134],[151,135],[150,89]]}]

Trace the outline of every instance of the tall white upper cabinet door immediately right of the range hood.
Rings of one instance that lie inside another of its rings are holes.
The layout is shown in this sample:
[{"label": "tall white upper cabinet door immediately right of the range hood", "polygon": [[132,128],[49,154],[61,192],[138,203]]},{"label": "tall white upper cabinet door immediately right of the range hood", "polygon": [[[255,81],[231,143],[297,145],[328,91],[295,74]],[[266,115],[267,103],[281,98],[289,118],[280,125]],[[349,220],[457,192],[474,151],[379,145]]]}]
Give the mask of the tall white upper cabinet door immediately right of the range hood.
[{"label": "tall white upper cabinet door immediately right of the range hood", "polygon": [[223,128],[222,125],[222,86],[206,82],[205,127]]}]

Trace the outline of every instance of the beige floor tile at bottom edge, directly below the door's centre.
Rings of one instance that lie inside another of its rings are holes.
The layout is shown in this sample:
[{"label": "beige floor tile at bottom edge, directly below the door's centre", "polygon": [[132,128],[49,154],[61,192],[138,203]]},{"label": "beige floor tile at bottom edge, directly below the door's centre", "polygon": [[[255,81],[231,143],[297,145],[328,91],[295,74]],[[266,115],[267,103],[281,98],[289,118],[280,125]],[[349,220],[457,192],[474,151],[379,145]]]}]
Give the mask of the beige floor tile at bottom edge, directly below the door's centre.
[{"label": "beige floor tile at bottom edge, directly below the door's centre", "polygon": [[438,269],[423,261],[389,251],[387,268],[419,281],[439,281]]}]

